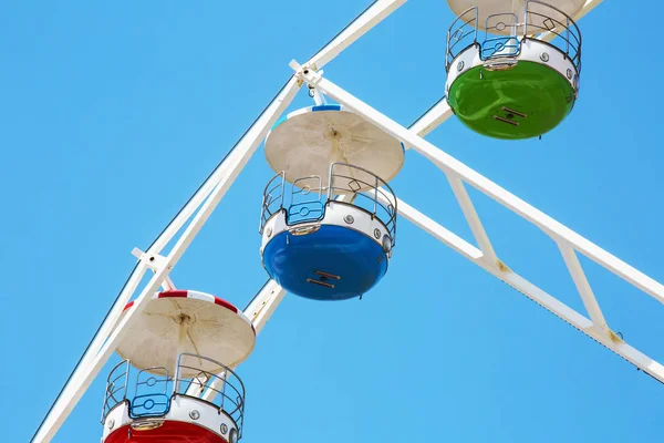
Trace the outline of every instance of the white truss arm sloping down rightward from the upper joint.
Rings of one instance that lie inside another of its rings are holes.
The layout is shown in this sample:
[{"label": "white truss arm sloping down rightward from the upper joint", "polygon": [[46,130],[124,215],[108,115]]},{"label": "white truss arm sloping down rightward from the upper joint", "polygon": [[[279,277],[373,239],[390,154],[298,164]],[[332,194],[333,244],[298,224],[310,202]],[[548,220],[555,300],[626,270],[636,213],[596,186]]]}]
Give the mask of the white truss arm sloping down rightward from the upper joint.
[{"label": "white truss arm sloping down rightward from the upper joint", "polygon": [[[643,290],[660,302],[664,302],[664,286],[662,286],[662,284],[653,280],[637,269],[620,260],[618,257],[609,254],[604,249],[581,237],[579,234],[547,216],[513,194],[510,194],[494,182],[473,171],[445,152],[438,150],[427,141],[423,140],[413,130],[409,131],[401,126],[398,123],[388,119],[384,114],[381,114],[375,109],[324,79],[320,73],[312,72],[307,69],[298,69],[299,65],[294,61],[291,62],[291,66],[295,69],[295,74],[303,79],[307,83],[319,89],[328,96],[336,100],[340,104],[349,110],[362,115],[369,122],[373,123],[377,127],[381,127],[392,136],[403,141],[414,151],[424,155],[432,163],[437,165],[447,175],[453,188],[454,186],[458,186],[459,183],[460,185],[467,183],[497,203],[512,210],[515,214],[536,225],[544,234],[551,237],[561,249],[561,254],[563,255],[566,264],[568,265],[570,274],[572,275],[574,284],[577,285],[591,319],[588,319],[581,313],[574,311],[560,300],[517,275],[500,260],[497,261],[498,266],[492,266],[491,261],[487,259],[487,253],[483,249],[481,240],[478,239],[480,250],[477,250],[476,247],[468,244],[466,240],[449,233],[447,229],[403,202],[398,203],[401,216],[411,220],[418,227],[429,231],[430,234],[436,233],[437,235],[434,235],[435,237],[446,243],[455,250],[461,253],[466,258],[470,259],[483,269],[517,289],[519,292],[526,295],[601,344],[613,350],[615,353],[644,370],[655,379],[664,382],[664,367],[626,344],[621,338],[611,331],[611,329],[609,329],[575,254],[578,251],[585,255],[588,258],[603,266],[616,276],[623,278],[636,288]],[[456,192],[455,194],[457,195],[457,198],[459,198],[459,194]],[[468,196],[467,194],[461,194],[461,197],[466,198]],[[470,203],[469,198],[468,203]],[[474,216],[477,216],[477,214],[474,214]],[[477,220],[479,222],[479,218],[477,218]],[[473,229],[473,231],[477,236],[477,226],[475,229]],[[486,236],[486,233],[484,233],[484,235]],[[488,237],[486,238],[486,243],[488,244]],[[485,249],[487,244],[484,245]]]}]

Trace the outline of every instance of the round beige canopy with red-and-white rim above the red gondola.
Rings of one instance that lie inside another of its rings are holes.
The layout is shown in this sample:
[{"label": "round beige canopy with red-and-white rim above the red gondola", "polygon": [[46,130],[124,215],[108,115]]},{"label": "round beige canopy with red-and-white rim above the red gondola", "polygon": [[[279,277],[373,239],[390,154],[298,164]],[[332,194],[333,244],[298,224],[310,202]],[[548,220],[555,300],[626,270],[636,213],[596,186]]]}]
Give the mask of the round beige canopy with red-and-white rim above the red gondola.
[{"label": "round beige canopy with red-and-white rim above the red gondola", "polygon": [[[127,308],[124,315],[133,309]],[[242,311],[196,291],[187,291],[186,298],[168,292],[155,295],[127,329],[116,352],[142,370],[164,365],[174,370],[183,353],[204,356],[232,367],[245,361],[256,344],[253,328]],[[178,332],[185,336],[180,337]],[[220,370],[201,360],[196,369],[183,369],[181,373],[184,378],[191,378],[201,369],[207,372]]]}]

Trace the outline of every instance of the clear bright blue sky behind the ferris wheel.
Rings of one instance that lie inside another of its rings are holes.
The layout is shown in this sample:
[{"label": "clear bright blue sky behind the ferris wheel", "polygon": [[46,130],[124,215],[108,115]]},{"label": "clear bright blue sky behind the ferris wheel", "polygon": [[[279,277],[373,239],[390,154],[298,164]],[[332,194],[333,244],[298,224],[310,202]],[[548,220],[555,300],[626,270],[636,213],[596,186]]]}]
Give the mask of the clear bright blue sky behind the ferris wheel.
[{"label": "clear bright blue sky behind the ferris wheel", "polygon": [[[0,421],[28,442],[135,259],[291,74],[367,1],[6,1],[0,12]],[[333,6],[332,6],[333,4]],[[606,0],[580,21],[581,96],[542,141],[450,119],[428,137],[664,281],[664,6]],[[442,1],[409,1],[325,68],[404,125],[444,92]],[[636,25],[634,27],[634,24]],[[302,93],[291,110],[310,105]],[[262,146],[173,272],[243,308],[267,275]],[[415,152],[397,195],[471,240]],[[582,309],[554,244],[471,192],[500,257]],[[664,360],[664,307],[582,260],[605,316]],[[98,441],[105,368],[54,442]],[[646,442],[664,387],[405,220],[362,301],[287,296],[239,367],[246,442]]]}]

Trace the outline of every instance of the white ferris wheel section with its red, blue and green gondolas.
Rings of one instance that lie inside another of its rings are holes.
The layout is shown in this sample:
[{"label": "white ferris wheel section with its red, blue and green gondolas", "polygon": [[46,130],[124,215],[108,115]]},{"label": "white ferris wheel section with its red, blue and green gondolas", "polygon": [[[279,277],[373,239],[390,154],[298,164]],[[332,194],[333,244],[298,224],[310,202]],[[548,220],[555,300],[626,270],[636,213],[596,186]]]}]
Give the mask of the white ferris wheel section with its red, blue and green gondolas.
[{"label": "white ferris wheel section with its red, blue and green gondolas", "polygon": [[[428,143],[453,114],[487,137],[522,140],[553,131],[579,100],[581,30],[601,0],[448,0],[446,95],[406,128],[324,76],[323,66],[405,3],[374,1],[294,73],[227,157],[145,250],[32,441],[49,442],[100,374],[103,443],[237,443],[245,425],[238,367],[284,295],[361,298],[398,254],[407,220],[579,331],[664,382],[664,367],[608,324],[581,254],[664,302],[664,286]],[[287,113],[300,90],[309,107]],[[260,257],[270,277],[242,311],[214,295],[183,290],[169,274],[258,146],[273,169],[260,205]],[[446,175],[478,247],[397,197],[390,182],[413,150]],[[473,186],[537,226],[560,249],[587,312],[566,306],[510,269],[474,208]],[[173,245],[166,250],[168,245]],[[152,278],[138,290],[146,274]]]}]

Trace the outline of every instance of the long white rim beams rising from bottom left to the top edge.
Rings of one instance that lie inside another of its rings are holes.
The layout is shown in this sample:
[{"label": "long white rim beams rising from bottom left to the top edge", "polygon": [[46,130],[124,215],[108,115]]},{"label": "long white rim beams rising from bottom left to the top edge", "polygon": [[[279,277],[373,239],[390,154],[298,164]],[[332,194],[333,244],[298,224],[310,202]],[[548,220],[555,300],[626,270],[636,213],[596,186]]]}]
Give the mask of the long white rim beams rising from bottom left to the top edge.
[{"label": "long white rim beams rising from bottom left to the top edge", "polygon": [[[319,51],[308,62],[308,65],[312,69],[322,68],[404,3],[405,0],[377,0],[349,27],[340,32],[328,45]],[[148,300],[146,296],[154,293],[168,277],[170,269],[181,257],[203,224],[215,209],[230,184],[235,181],[240,169],[249,159],[250,154],[252,154],[260,144],[268,128],[274,124],[277,117],[288,107],[300,85],[301,83],[294,78],[287,83],[277,100],[268,106],[259,120],[257,120],[251,128],[242,136],[224,164],[204,183],[201,188],[193,196],[183,210],[143,255],[114,306],[111,308],[98,333],[93,339],[85,356],[83,356],[81,363],[75,368],[73,377],[38,430],[33,439],[34,443],[50,442],[58,432],[92,380],[98,373],[101,367],[114,351],[118,339],[122,339],[123,328],[131,324],[132,317],[145,308],[145,303]],[[152,262],[154,257],[175,238],[179,229],[185,226],[186,222],[189,220],[197,210],[198,214],[190,222],[185,233],[179,237],[168,255],[166,262],[155,271],[155,275],[136,299],[132,315],[126,316],[126,318],[118,323],[124,307],[136,291],[145,271],[148,269],[147,264]],[[276,308],[277,303],[273,303],[272,310]]]}]

